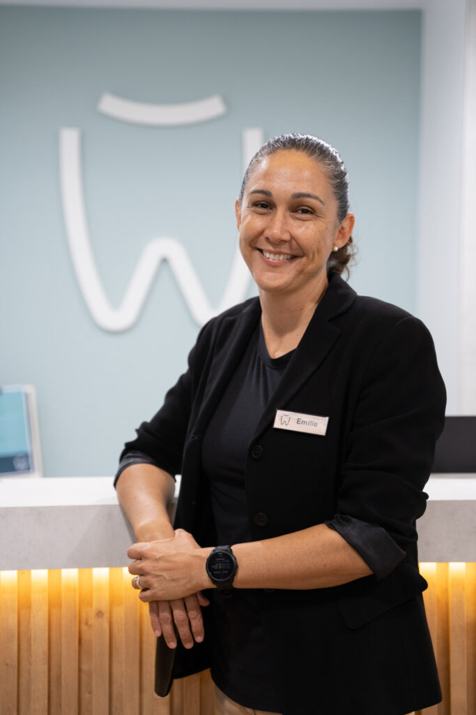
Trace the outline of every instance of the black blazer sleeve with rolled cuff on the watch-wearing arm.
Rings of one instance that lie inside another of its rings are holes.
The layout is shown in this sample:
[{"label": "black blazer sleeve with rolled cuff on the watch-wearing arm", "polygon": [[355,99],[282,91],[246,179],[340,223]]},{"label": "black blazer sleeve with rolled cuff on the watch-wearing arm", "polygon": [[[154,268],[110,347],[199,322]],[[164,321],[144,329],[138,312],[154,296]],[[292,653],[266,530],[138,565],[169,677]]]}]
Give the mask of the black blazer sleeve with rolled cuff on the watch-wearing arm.
[{"label": "black blazer sleeve with rolled cuff on the watch-wearing arm", "polygon": [[417,541],[446,393],[430,332],[407,315],[370,359],[345,445],[335,518],[327,523],[377,578]]}]

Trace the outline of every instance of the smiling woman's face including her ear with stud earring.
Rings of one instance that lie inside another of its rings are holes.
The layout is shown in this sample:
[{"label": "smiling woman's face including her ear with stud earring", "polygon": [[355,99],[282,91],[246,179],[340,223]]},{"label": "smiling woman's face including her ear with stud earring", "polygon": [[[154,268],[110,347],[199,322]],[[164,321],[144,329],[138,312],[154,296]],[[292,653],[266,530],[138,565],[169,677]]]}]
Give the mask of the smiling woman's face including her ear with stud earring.
[{"label": "smiling woman's face including her ear with stud earring", "polygon": [[330,252],[348,242],[354,225],[352,214],[340,223],[337,208],[315,159],[294,150],[262,159],[236,202],[240,250],[260,293],[317,300]]}]

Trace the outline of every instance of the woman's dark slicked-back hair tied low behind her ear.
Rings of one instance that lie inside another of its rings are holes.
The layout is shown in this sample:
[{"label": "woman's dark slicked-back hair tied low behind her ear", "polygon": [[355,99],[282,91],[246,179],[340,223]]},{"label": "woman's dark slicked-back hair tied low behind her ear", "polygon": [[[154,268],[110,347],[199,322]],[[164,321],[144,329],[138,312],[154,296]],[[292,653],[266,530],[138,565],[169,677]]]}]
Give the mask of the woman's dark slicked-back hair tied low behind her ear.
[{"label": "woman's dark slicked-back hair tied low behind her ear", "polygon": [[[337,200],[337,217],[339,222],[342,222],[349,212],[349,177],[344,162],[340,158],[337,149],[331,147],[330,144],[324,142],[323,139],[313,137],[312,134],[281,134],[279,137],[273,137],[263,146],[258,149],[248,164],[243,183],[241,184],[239,201],[241,203],[243,194],[245,193],[246,184],[250,179],[250,175],[264,157],[270,157],[271,154],[281,151],[295,151],[307,154],[311,159],[323,167],[328,181],[333,188],[335,199]],[[333,251],[328,259],[328,273],[342,273],[344,270],[349,275],[349,262],[355,257],[355,247],[353,245],[352,236],[338,251]]]}]

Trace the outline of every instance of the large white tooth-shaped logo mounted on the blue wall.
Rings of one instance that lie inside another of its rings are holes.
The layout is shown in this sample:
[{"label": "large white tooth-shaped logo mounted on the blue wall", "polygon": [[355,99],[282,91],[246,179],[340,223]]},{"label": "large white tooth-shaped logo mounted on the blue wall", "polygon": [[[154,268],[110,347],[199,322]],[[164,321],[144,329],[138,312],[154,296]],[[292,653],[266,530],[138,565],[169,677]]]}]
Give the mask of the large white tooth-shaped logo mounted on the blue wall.
[{"label": "large white tooth-shaped logo mounted on the blue wall", "polygon": [[[225,102],[218,95],[184,104],[145,104],[131,102],[108,93],[103,94],[96,109],[102,114],[107,114],[108,117],[123,122],[155,127],[176,127],[206,122],[227,111]],[[243,129],[243,170],[261,144],[263,144],[262,129]],[[214,308],[206,297],[185,247],[174,238],[160,237],[149,241],[144,247],[124,292],[121,305],[118,308],[111,307],[98,274],[86,220],[80,129],[60,130],[59,165],[64,222],[74,272],[84,302],[93,320],[103,330],[121,332],[134,325],[163,260],[168,261],[188,310],[198,325],[203,325],[213,315],[243,300],[248,287],[249,273],[238,247],[233,256],[228,284],[219,305]]]}]

